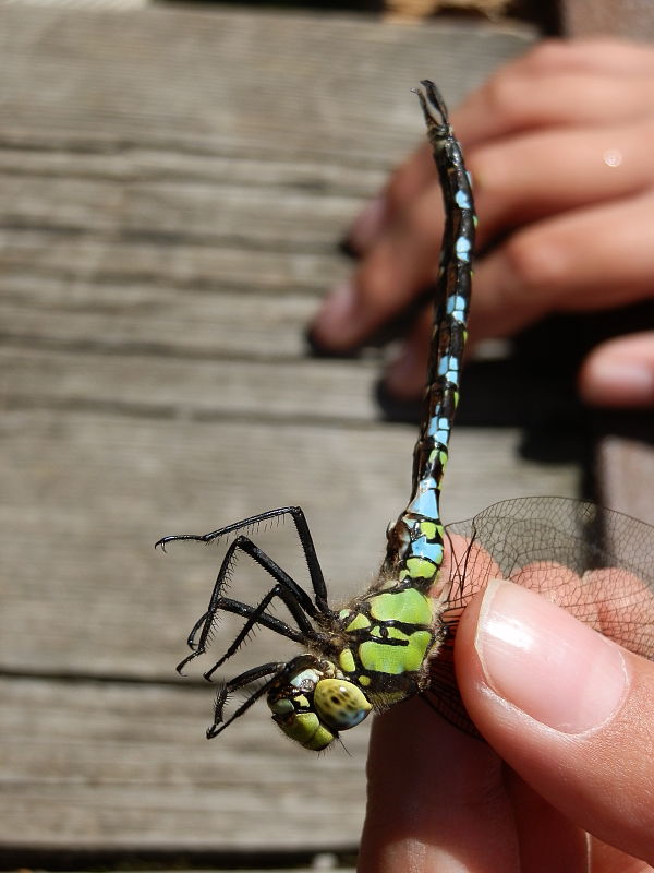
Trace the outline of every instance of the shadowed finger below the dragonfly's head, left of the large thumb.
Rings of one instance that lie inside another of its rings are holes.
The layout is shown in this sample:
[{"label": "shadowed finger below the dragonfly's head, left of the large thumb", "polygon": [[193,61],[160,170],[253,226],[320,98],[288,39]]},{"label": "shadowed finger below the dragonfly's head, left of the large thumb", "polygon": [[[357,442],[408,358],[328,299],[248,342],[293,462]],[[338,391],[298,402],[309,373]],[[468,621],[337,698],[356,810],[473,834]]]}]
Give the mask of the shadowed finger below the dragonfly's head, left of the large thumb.
[{"label": "shadowed finger below the dragonfly's head, left of the large thumb", "polygon": [[421,699],[375,718],[361,873],[511,873],[519,859],[501,762]]}]

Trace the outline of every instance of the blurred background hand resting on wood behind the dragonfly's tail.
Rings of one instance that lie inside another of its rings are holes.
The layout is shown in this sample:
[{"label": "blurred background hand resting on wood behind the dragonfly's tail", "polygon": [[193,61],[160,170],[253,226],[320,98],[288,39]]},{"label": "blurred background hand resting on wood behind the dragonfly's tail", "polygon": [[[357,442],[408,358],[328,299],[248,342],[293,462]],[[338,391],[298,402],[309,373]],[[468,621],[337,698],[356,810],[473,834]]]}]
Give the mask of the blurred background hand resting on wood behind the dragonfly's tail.
[{"label": "blurred background hand resting on wood behind the dragonfly's tail", "polygon": [[[653,48],[544,43],[473,93],[452,124],[480,216],[473,343],[549,312],[654,296]],[[425,145],[355,222],[350,242],[361,262],[312,325],[316,345],[346,352],[365,344],[428,285],[440,196]],[[386,374],[397,397],[422,393],[431,320],[423,313]],[[654,331],[598,346],[580,390],[601,405],[654,404]]]}]

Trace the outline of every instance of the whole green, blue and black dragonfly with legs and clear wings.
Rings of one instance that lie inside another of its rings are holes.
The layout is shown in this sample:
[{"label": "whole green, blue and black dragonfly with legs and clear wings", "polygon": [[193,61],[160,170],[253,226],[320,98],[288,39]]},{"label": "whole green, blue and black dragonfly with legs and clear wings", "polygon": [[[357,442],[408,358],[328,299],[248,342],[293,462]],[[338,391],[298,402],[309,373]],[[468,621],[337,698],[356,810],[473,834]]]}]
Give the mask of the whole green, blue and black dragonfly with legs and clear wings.
[{"label": "whole green, blue and black dragonfly with legs and clear wings", "polygon": [[[504,501],[447,528],[440,519],[441,482],[467,339],[476,217],[470,176],[446,104],[428,80],[415,93],[443,191],[445,228],[411,497],[387,530],[386,555],[377,577],[338,610],[329,605],[300,506],[269,510],[208,534],[168,536],[156,543],[165,549],[172,541],[206,543],[233,535],[208,607],[187,637],[191,651],[178,665],[180,673],[207,651],[225,612],[244,621],[225,654],[204,673],[209,681],[257,627],[302,647],[288,661],[263,663],[222,681],[207,729],[209,739],[264,696],[279,728],[313,751],[329,746],[371,711],[384,711],[415,695],[462,730],[479,736],[457,690],[452,650],[463,609],[491,578],[532,587],[619,644],[654,659],[654,528],[593,503],[564,498]],[[311,590],[249,536],[274,519],[292,522]],[[228,595],[241,554],[271,579],[254,605]],[[291,621],[274,614],[279,603]],[[240,691],[245,698],[230,707],[230,697]]]}]

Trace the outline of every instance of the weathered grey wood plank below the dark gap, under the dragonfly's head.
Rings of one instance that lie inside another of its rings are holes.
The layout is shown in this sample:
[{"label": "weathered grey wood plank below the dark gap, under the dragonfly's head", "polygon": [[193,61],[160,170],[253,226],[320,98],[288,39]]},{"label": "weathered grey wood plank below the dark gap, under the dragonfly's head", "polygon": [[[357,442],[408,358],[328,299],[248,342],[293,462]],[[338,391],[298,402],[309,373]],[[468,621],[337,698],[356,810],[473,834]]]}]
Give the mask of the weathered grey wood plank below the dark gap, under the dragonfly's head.
[{"label": "weathered grey wood plank below the dark gap, under the dragonfly's head", "polygon": [[366,726],[348,738],[349,755],[312,755],[281,736],[265,704],[226,742],[207,742],[208,686],[0,684],[0,844],[275,850],[358,841]]}]

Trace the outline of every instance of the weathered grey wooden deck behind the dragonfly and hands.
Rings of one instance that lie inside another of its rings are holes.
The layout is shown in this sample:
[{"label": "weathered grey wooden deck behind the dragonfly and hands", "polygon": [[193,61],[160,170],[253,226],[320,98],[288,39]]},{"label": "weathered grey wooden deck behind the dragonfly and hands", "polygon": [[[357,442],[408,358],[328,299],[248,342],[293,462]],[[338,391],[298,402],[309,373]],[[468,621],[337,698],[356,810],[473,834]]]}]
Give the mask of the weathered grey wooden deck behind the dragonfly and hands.
[{"label": "weathered grey wooden deck behind the dragonfly and hands", "polygon": [[[302,754],[259,706],[207,743],[211,689],[174,665],[220,552],[153,543],[299,503],[337,597],[374,573],[414,428],[380,420],[376,359],[307,359],[303,328],[422,135],[409,87],[456,103],[533,34],[11,3],[0,34],[2,863],[328,866],[366,730]],[[574,492],[519,439],[457,433],[449,518]]]}]

